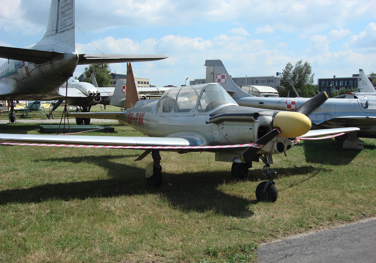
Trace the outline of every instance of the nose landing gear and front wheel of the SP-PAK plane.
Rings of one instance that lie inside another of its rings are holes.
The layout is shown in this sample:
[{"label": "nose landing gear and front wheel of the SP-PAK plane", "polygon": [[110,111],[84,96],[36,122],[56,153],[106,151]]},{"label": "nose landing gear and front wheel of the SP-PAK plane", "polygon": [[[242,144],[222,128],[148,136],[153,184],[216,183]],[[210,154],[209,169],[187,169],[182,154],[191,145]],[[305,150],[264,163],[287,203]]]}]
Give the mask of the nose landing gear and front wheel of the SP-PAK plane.
[{"label": "nose landing gear and front wheel of the SP-PAK plane", "polygon": [[[275,202],[278,197],[278,191],[275,186],[274,177],[277,176],[276,170],[270,169],[270,164],[273,163],[271,155],[260,155],[260,159],[264,162],[264,168],[261,170],[261,174],[267,179],[266,182],[261,182],[256,187],[256,199],[257,201],[270,201]],[[264,171],[266,170],[266,173]]]}]

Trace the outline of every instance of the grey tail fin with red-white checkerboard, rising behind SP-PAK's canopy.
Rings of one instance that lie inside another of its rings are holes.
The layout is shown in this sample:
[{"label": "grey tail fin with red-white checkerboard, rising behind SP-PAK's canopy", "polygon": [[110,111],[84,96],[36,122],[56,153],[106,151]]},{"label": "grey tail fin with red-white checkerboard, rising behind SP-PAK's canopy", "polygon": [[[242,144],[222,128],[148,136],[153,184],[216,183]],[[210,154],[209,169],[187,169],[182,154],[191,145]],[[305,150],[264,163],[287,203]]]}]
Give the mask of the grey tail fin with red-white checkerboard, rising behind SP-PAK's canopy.
[{"label": "grey tail fin with red-white checkerboard, rising behind SP-PAK's canopy", "polygon": [[206,83],[214,82],[220,84],[233,98],[252,96],[233,82],[221,60],[205,60],[205,66]]}]

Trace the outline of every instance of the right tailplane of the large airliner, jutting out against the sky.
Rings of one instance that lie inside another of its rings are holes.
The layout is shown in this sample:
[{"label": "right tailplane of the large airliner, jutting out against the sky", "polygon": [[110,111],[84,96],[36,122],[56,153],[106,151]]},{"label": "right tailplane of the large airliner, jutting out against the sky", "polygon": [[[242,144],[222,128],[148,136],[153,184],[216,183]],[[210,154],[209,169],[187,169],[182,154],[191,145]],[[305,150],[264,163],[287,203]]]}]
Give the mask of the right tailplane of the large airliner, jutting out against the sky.
[{"label": "right tailplane of the large airliner, jutting out against the sky", "polygon": [[77,65],[102,64],[102,63],[123,63],[123,62],[145,62],[167,59],[163,55],[93,55],[80,54]]}]

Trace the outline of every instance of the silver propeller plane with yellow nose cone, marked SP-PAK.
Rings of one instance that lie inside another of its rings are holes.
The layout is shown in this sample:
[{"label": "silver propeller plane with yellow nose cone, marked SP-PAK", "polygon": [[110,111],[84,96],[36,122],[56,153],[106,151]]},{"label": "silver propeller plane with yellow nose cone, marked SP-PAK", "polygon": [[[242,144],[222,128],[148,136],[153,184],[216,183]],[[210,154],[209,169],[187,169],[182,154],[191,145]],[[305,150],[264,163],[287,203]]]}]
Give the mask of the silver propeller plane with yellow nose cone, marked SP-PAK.
[{"label": "silver propeller plane with yellow nose cone, marked SP-PAK", "polygon": [[[274,177],[270,169],[272,155],[285,153],[296,137],[317,137],[358,128],[309,131],[311,114],[326,99],[320,93],[295,112],[259,110],[239,106],[217,83],[169,89],[160,99],[139,100],[132,68],[127,66],[126,110],[112,113],[71,113],[70,117],[88,116],[115,119],[150,137],[107,137],[80,135],[0,134],[2,144],[49,146],[109,147],[144,150],[136,161],[151,153],[145,177],[149,185],[162,184],[159,151],[178,153],[214,152],[216,161],[232,162],[231,172],[244,178],[252,162],[261,159],[265,179],[256,188],[257,200],[277,200]],[[132,83],[132,84],[131,84]]]}]

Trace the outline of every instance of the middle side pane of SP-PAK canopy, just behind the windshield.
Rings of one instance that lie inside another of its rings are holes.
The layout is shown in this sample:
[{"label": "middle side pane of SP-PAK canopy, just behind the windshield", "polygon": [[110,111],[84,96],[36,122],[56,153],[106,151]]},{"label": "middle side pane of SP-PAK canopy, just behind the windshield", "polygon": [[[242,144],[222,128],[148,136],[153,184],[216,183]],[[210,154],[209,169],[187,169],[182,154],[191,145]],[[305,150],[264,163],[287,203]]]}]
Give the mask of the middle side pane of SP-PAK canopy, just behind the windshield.
[{"label": "middle side pane of SP-PAK canopy, just behind the windshield", "polygon": [[197,104],[201,90],[201,87],[199,89],[190,86],[182,87],[177,95],[174,112],[191,111]]}]

